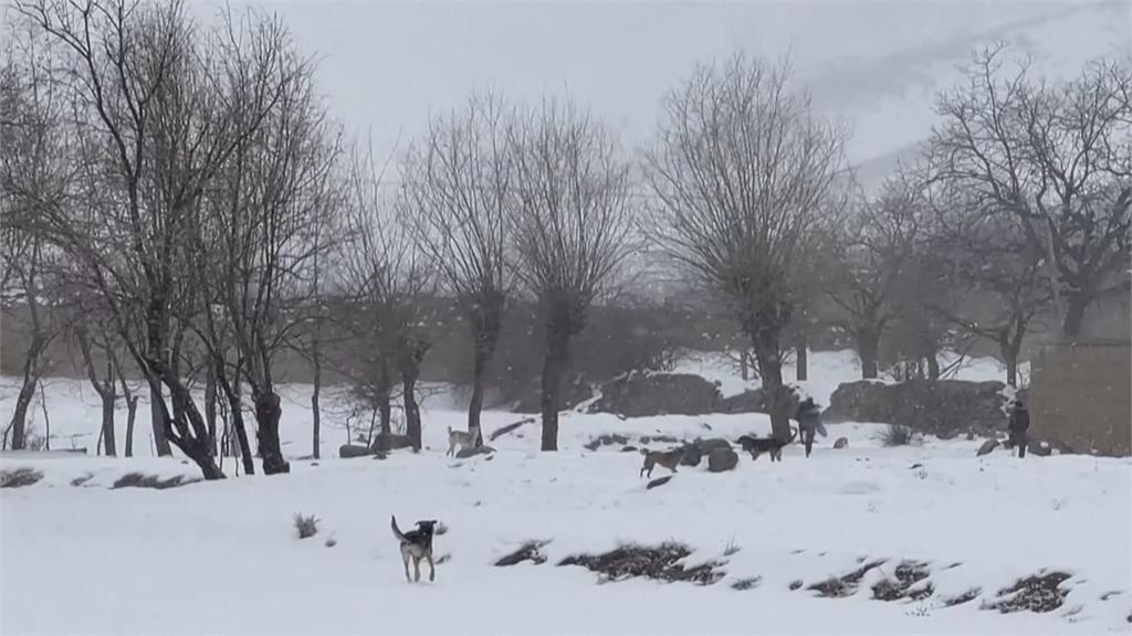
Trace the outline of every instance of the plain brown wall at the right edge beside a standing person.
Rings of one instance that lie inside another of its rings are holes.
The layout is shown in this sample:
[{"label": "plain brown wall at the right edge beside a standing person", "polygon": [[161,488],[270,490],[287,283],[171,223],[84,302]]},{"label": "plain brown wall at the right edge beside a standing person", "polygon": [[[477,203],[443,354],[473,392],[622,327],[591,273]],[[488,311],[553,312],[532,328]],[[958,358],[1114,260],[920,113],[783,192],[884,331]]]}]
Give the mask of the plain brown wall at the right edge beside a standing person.
[{"label": "plain brown wall at the right edge beside a standing person", "polygon": [[1035,438],[1063,441],[1080,453],[1132,454],[1132,343],[1050,344],[1032,364]]}]

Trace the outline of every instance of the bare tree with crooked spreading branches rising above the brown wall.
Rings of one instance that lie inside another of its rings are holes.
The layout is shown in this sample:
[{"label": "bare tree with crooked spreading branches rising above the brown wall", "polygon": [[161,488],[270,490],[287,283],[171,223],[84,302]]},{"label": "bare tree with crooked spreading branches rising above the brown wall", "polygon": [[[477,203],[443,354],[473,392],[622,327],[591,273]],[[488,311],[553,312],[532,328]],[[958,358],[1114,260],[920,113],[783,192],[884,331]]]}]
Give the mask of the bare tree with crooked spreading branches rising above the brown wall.
[{"label": "bare tree with crooked spreading branches rising above the brown wall", "polygon": [[1078,337],[1088,307],[1127,284],[1132,63],[1098,60],[1053,84],[1004,57],[1003,45],[977,53],[967,85],[940,95],[934,179],[1017,218],[1056,280],[1062,334]]}]

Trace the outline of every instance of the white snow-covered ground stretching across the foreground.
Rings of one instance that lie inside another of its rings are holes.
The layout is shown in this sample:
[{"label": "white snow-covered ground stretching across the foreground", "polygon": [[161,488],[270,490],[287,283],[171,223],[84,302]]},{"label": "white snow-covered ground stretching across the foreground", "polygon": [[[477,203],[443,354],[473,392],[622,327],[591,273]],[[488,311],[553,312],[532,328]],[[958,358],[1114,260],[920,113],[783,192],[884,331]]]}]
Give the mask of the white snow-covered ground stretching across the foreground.
[{"label": "white snow-covered ground stretching across the foreground", "polygon": [[[827,403],[854,379],[844,353],[814,354],[806,390]],[[698,369],[698,370],[697,370]],[[701,356],[680,371],[741,390],[730,371]],[[994,377],[981,361],[960,377]],[[741,385],[741,380],[738,380]],[[0,415],[11,407],[3,385]],[[48,388],[52,447],[94,447],[98,411],[77,380]],[[1129,633],[1132,624],[1132,463],[1086,456],[975,457],[979,441],[883,448],[882,427],[834,424],[806,459],[740,455],[732,472],[681,467],[646,490],[641,455],[583,446],[602,433],[677,438],[766,432],[760,415],[618,420],[568,413],[560,450],[538,453],[537,424],[490,442],[494,456],[444,456],[445,428],[464,414],[437,398],[424,412],[418,454],[336,459],[345,430],[327,424],[324,458],[310,452],[303,387],[289,387],[283,439],[292,474],[240,476],[170,490],[110,489],[122,474],[197,476],[180,458],[7,454],[0,470],[44,478],[0,490],[0,633]],[[38,406],[36,405],[36,409]],[[139,413],[138,454],[148,448]],[[37,411],[36,431],[42,413]],[[327,419],[334,420],[334,416]],[[484,415],[486,432],[517,421]],[[125,429],[120,416],[119,444]],[[709,430],[710,427],[710,430]],[[75,436],[75,437],[71,437]],[[849,447],[831,448],[846,437]],[[663,448],[667,445],[650,446]],[[231,474],[231,464],[225,470]],[[658,467],[653,476],[668,474]],[[72,485],[76,480],[82,485]],[[300,541],[295,513],[320,519]],[[435,583],[404,581],[391,514],[404,528],[436,518],[448,559]],[[334,545],[327,547],[326,540]],[[494,567],[528,540],[549,540],[543,565]],[[646,579],[599,584],[581,567],[556,567],[580,552],[621,543],[677,541],[688,565],[722,561],[714,585]],[[737,551],[736,551],[737,550]],[[868,570],[856,593],[808,590]],[[931,595],[873,599],[873,586],[903,561],[926,562]],[[986,605],[1018,579],[1069,575],[1061,607],[1001,613]],[[757,577],[749,590],[731,587]],[[797,590],[797,583],[801,586]],[[949,602],[977,590],[968,602]]]}]

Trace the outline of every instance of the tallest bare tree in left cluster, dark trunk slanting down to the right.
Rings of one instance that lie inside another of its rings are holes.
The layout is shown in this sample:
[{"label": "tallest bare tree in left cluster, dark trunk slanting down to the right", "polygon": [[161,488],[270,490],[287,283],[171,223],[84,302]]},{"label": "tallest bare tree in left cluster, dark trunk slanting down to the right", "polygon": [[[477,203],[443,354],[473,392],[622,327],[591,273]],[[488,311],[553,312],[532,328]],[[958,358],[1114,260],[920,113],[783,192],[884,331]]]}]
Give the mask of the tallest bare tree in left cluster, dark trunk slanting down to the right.
[{"label": "tallest bare tree in left cluster, dark trunk slanting down to the right", "polygon": [[17,8],[48,34],[68,71],[82,175],[69,205],[42,206],[40,227],[84,274],[149,384],[158,454],[168,439],[206,479],[221,479],[181,373],[211,282],[196,267],[192,237],[221,169],[290,86],[289,40],[250,14],[242,23],[226,15],[201,35],[178,2]]}]

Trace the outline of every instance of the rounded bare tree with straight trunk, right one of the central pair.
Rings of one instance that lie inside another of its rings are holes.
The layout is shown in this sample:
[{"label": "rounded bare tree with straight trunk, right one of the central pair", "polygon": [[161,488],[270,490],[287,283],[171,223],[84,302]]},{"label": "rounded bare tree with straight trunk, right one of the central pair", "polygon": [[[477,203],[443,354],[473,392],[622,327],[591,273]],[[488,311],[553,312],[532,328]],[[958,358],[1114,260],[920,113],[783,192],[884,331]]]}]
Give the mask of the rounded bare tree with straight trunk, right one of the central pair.
[{"label": "rounded bare tree with straight trunk, right one of the central pair", "polygon": [[537,300],[544,330],[542,450],[557,450],[571,337],[634,250],[629,170],[611,134],[569,102],[525,113],[509,145],[515,274]]}]

